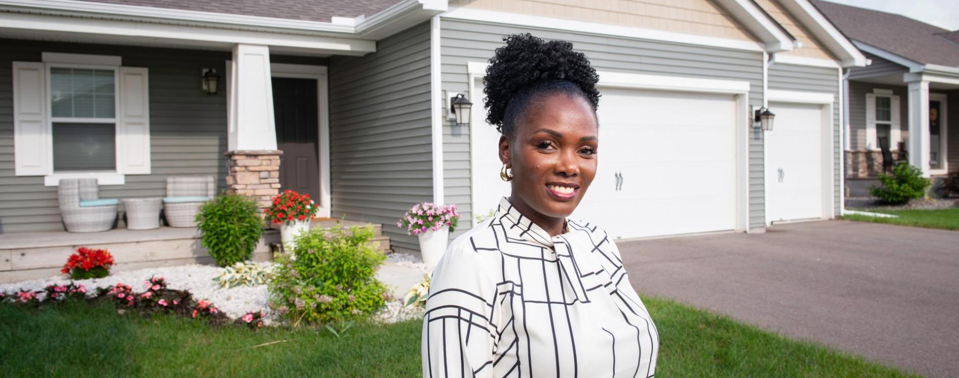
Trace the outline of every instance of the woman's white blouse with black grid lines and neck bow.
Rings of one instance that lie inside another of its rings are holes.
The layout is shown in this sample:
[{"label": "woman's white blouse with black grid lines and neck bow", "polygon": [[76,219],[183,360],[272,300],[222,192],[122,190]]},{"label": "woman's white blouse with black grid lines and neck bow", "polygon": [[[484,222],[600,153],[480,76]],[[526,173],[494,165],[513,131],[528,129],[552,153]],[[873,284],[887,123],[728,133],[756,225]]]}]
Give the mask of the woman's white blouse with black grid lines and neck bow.
[{"label": "woman's white blouse with black grid lines and neck bow", "polygon": [[606,233],[550,237],[507,198],[440,259],[424,377],[652,377],[659,335]]}]

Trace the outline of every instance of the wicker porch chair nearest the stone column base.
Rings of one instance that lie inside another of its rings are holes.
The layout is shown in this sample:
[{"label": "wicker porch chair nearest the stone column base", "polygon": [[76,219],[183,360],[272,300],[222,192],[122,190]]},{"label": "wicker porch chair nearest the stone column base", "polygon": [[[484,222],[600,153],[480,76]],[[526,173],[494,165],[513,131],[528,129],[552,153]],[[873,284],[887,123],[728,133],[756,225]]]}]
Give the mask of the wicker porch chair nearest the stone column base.
[{"label": "wicker porch chair nearest the stone column base", "polygon": [[216,193],[213,176],[169,176],[163,213],[170,227],[197,227],[197,211]]}]

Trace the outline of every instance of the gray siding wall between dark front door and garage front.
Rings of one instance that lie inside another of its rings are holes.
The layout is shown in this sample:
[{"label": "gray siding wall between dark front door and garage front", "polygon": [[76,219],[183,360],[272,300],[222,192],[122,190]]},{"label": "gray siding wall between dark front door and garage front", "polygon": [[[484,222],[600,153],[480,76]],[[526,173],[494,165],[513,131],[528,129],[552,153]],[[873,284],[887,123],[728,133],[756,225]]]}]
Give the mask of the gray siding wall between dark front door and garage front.
[{"label": "gray siding wall between dark front door and garage front", "polygon": [[418,250],[395,225],[433,202],[429,23],[329,63],[333,216],[383,224],[391,245]]}]

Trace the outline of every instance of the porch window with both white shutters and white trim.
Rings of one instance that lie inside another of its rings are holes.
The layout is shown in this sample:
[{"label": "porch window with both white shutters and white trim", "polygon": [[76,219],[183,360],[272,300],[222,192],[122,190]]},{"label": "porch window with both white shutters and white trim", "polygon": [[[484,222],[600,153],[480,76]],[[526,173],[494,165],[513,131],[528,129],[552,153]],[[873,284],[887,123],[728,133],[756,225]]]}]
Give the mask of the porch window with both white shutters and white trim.
[{"label": "porch window with both white shutters and white trim", "polygon": [[44,53],[13,62],[14,167],[17,176],[94,177],[124,184],[150,173],[146,68],[120,56]]}]

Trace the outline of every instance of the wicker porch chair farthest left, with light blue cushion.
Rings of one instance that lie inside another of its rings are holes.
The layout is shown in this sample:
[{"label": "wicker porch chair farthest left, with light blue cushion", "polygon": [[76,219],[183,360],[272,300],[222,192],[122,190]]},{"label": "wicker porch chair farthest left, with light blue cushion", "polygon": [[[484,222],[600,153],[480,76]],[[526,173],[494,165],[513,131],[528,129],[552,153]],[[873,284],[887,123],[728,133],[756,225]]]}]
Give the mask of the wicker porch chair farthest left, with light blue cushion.
[{"label": "wicker porch chair farthest left, with light blue cushion", "polygon": [[99,233],[113,228],[120,202],[101,199],[97,179],[60,179],[57,191],[67,232]]}]

